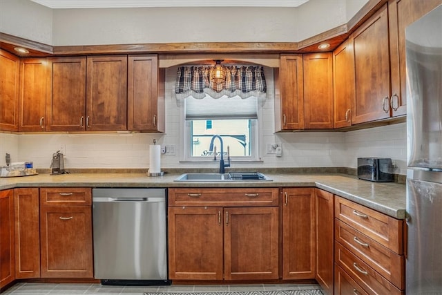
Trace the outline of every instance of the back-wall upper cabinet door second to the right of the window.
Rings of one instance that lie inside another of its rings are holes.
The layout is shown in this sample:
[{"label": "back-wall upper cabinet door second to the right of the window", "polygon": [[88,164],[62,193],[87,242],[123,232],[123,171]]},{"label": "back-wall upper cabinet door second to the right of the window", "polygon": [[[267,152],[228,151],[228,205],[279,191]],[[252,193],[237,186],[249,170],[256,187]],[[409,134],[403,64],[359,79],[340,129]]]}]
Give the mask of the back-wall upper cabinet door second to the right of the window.
[{"label": "back-wall upper cabinet door second to the right of the window", "polygon": [[333,129],[332,53],[311,53],[302,57],[304,68],[304,127]]}]

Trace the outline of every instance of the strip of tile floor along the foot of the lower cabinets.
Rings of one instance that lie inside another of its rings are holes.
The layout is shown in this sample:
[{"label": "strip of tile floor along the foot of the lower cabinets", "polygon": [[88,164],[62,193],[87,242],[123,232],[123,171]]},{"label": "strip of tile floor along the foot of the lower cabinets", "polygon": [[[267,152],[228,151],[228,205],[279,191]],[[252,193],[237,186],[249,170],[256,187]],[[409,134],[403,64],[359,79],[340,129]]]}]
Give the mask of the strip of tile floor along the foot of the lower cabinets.
[{"label": "strip of tile floor along the foot of the lower cabinets", "polygon": [[100,295],[140,295],[143,292],[234,292],[234,291],[270,291],[285,289],[320,289],[319,285],[285,284],[285,285],[173,285],[151,287],[103,286],[100,284],[48,284],[17,283],[1,294],[26,295],[67,295],[67,294],[100,294]]}]

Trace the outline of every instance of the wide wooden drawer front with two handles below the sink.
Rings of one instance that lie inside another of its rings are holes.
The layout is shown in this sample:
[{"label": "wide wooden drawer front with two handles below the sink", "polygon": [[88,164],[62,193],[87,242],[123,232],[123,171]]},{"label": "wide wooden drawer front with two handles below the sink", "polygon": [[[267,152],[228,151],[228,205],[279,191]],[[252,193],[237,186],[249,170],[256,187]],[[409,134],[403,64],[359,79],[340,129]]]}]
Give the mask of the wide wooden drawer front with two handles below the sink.
[{"label": "wide wooden drawer front with two handles below the sink", "polygon": [[277,188],[250,189],[169,189],[169,206],[278,206]]}]

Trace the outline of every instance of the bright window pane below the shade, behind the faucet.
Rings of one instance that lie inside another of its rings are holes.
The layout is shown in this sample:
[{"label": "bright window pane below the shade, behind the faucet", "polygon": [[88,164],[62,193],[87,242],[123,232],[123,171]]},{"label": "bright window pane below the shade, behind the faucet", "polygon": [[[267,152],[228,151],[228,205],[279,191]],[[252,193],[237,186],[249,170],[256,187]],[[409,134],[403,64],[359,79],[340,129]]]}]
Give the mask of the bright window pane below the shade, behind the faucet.
[{"label": "bright window pane below the shade, behind the faucet", "polygon": [[[192,120],[191,122],[191,156],[213,158],[209,146],[213,135],[220,135],[224,146],[224,156],[227,157],[227,146],[231,157],[249,157],[251,155],[251,121],[239,120]],[[209,128],[210,127],[210,128]],[[221,154],[220,140],[213,142],[216,152]]]}]

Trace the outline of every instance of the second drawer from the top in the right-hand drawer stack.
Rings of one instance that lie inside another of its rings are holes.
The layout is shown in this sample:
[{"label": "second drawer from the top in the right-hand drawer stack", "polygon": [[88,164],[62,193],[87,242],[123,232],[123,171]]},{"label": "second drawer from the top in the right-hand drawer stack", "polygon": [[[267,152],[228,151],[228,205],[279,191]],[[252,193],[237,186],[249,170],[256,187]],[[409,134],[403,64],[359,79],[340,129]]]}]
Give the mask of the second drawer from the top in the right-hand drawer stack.
[{"label": "second drawer from the top in the right-hand drawer stack", "polygon": [[365,261],[370,267],[390,280],[396,287],[403,289],[404,257],[361,234],[356,229],[346,225],[340,220],[335,220],[335,239],[347,247],[358,258]]}]

